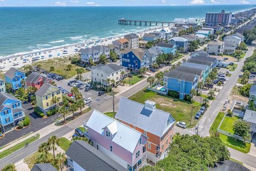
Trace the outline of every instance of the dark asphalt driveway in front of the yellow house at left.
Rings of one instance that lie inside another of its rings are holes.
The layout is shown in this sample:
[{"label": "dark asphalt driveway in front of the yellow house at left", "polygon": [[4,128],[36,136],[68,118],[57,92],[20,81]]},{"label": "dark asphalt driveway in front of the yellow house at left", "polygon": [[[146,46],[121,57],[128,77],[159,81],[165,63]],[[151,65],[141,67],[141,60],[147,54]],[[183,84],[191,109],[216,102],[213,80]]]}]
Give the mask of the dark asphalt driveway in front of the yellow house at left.
[{"label": "dark asphalt driveway in front of the yellow house at left", "polygon": [[29,102],[23,102],[22,107],[25,109],[26,116],[30,118],[30,125],[21,130],[13,130],[6,133],[4,138],[0,140],[0,147],[30,132],[41,130],[43,127],[52,124],[55,119],[61,117],[61,114],[55,114],[51,117],[40,118],[34,113],[34,107]]}]

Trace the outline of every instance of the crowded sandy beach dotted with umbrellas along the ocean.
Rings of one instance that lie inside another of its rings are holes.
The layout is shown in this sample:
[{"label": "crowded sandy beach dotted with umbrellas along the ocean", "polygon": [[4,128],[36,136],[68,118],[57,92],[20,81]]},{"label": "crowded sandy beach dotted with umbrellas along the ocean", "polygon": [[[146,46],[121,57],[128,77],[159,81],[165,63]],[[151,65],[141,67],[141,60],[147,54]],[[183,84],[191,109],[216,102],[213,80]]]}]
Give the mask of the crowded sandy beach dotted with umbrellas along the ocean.
[{"label": "crowded sandy beach dotted with umbrellas along the ocean", "polygon": [[[170,26],[169,28],[171,28],[171,27],[173,27],[173,26]],[[149,28],[146,30],[140,30],[140,31],[137,31],[134,33],[139,35],[139,37],[142,37],[144,33],[153,32],[155,30],[162,29],[162,28],[168,28],[168,27],[167,26],[152,27],[152,28]],[[125,35],[127,35],[127,34],[129,34],[129,33],[126,33]],[[92,47],[92,46],[97,46],[97,45],[110,45],[110,44],[112,44],[113,41],[123,38],[123,36],[124,35],[119,35],[116,37],[102,38],[102,39],[95,40],[95,41],[85,41],[85,42],[79,43],[79,44],[63,45],[63,46],[59,46],[59,47],[35,50],[33,52],[18,53],[18,54],[14,54],[14,55],[5,56],[0,59],[0,70],[7,71],[11,67],[19,68],[24,65],[30,65],[33,62],[52,59],[55,57],[78,55],[78,51],[81,48]],[[37,58],[37,60],[33,61],[34,58]]]}]

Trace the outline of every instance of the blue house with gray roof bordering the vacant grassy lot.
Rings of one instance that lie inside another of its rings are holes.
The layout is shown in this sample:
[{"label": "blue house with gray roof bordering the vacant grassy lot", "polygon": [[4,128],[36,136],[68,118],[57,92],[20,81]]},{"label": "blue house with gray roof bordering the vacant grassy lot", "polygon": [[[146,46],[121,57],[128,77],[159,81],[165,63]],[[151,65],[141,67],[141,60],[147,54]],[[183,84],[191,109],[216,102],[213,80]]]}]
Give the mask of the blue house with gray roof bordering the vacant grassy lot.
[{"label": "blue house with gray roof bordering the vacant grassy lot", "polygon": [[192,89],[197,89],[198,76],[196,74],[171,70],[164,74],[164,88],[179,92],[179,98],[190,95]]}]

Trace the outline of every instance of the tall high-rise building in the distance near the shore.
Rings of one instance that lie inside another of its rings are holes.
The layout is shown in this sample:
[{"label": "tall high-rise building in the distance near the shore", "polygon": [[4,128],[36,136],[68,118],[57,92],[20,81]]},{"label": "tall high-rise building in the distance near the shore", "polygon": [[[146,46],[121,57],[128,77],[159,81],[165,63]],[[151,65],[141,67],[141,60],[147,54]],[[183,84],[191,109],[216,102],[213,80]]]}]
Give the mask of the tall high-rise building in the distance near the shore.
[{"label": "tall high-rise building in the distance near the shore", "polygon": [[225,13],[225,10],[222,10],[221,13],[206,13],[205,16],[205,25],[230,25],[231,22],[231,13]]}]

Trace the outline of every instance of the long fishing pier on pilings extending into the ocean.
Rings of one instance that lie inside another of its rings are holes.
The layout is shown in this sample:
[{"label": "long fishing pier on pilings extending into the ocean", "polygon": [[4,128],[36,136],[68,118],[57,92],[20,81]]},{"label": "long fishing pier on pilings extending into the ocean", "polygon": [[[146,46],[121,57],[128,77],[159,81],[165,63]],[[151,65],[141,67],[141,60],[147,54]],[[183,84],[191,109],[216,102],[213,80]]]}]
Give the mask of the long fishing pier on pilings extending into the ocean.
[{"label": "long fishing pier on pilings extending into the ocean", "polygon": [[143,20],[126,20],[124,18],[118,20],[118,24],[123,24],[123,25],[155,25],[157,26],[157,24],[162,24],[162,26],[164,26],[164,24],[168,24],[168,26],[170,26],[170,24],[172,24],[174,22],[171,21],[143,21]]}]

